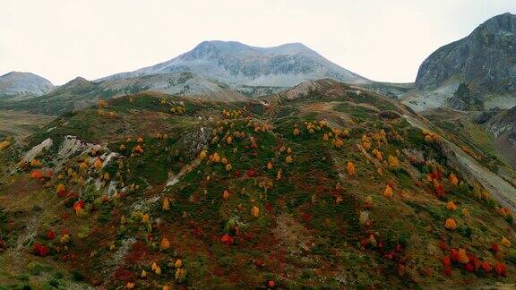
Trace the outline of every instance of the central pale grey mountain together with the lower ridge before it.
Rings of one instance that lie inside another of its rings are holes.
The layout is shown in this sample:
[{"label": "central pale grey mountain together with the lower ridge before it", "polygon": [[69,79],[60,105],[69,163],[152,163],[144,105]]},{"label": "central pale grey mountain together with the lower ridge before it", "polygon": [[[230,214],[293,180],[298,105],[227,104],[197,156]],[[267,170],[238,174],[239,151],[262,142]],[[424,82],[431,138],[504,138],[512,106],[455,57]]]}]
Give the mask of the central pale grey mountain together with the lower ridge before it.
[{"label": "central pale grey mountain together with the lower ridge before it", "polygon": [[[244,100],[288,90],[303,81],[324,78],[356,84],[372,83],[300,43],[250,47],[234,41],[204,41],[165,63],[96,81],[76,78],[55,90],[25,94],[27,98],[17,99],[17,102],[4,100],[0,107],[59,115],[99,99],[149,90],[197,98]],[[49,88],[54,88],[49,81],[48,84]]]}]

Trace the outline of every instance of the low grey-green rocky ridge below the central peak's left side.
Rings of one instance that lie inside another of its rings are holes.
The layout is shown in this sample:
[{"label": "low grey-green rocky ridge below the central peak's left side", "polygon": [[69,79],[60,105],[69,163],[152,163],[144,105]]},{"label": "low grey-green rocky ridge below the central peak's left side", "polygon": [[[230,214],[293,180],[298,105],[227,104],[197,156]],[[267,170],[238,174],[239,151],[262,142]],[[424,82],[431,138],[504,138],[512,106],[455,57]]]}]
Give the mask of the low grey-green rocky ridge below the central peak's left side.
[{"label": "low grey-green rocky ridge below the central peak's left side", "polygon": [[244,94],[228,85],[193,73],[161,73],[125,79],[87,81],[78,77],[38,98],[0,102],[6,109],[26,110],[45,115],[61,115],[96,104],[101,99],[117,98],[143,91],[176,96],[226,101],[244,100]]}]

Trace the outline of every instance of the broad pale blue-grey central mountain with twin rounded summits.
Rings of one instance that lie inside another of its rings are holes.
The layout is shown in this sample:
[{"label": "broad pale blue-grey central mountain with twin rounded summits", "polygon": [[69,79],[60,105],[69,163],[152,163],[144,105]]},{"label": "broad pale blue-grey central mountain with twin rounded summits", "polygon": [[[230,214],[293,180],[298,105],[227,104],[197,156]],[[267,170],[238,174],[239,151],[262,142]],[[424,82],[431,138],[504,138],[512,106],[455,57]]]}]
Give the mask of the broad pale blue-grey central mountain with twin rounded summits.
[{"label": "broad pale blue-grey central mountain with twin rounded summits", "polygon": [[331,63],[301,43],[279,47],[250,47],[235,41],[204,41],[167,62],[105,80],[172,72],[192,72],[238,86],[292,87],[302,81],[332,78],[369,83],[356,73]]}]

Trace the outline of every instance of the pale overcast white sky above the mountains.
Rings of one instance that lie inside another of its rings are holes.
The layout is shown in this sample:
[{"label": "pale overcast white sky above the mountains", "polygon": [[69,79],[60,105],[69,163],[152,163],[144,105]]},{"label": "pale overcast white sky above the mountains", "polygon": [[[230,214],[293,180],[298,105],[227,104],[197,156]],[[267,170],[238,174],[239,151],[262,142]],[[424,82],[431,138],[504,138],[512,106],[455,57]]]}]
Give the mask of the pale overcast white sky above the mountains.
[{"label": "pale overcast white sky above the mountains", "polygon": [[157,64],[202,40],[302,42],[374,81],[414,81],[436,48],[515,0],[0,0],[0,74],[55,84]]}]

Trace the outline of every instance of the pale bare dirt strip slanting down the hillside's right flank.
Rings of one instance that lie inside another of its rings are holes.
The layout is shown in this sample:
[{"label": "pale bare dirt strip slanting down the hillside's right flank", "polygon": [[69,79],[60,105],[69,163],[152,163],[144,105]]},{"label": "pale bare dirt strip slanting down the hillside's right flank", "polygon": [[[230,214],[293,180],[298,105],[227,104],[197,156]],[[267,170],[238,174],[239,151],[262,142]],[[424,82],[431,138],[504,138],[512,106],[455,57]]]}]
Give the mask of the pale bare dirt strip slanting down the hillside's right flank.
[{"label": "pale bare dirt strip slanting down the hillside's right flank", "polygon": [[[403,117],[414,127],[432,131],[413,116],[403,115]],[[456,161],[457,165],[460,166],[463,175],[472,176],[487,191],[491,192],[495,200],[498,200],[507,209],[511,209],[512,212],[516,211],[516,189],[510,183],[507,183],[502,177],[495,175],[486,167],[479,165],[477,160],[471,158],[452,141],[444,138],[442,140],[444,149],[448,150],[448,153],[452,153],[450,154],[453,155],[452,161]]]}]

